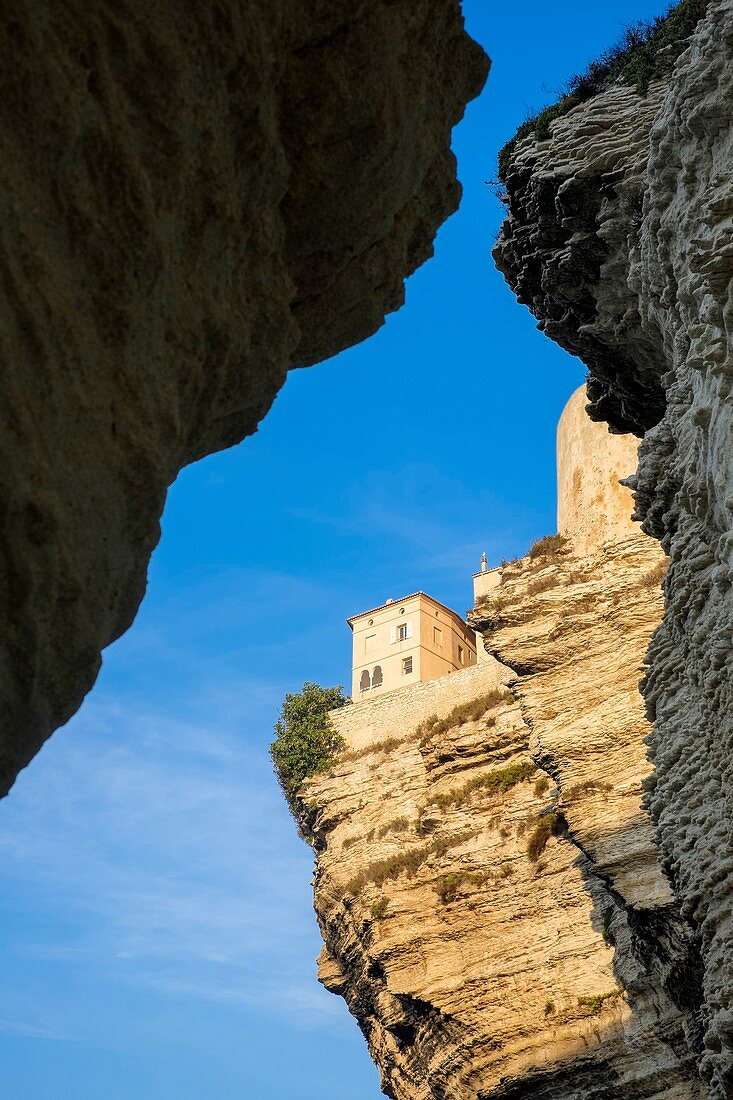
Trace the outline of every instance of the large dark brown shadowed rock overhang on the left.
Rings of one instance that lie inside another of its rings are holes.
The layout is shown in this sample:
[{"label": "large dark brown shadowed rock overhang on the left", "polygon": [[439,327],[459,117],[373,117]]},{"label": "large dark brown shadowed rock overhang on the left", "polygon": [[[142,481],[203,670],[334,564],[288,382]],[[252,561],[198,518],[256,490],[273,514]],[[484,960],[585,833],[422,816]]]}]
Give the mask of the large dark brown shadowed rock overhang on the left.
[{"label": "large dark brown shadowed rock overhang on the left", "polygon": [[364,339],[455,209],[458,0],[3,9],[0,793],[131,623],[178,470]]}]

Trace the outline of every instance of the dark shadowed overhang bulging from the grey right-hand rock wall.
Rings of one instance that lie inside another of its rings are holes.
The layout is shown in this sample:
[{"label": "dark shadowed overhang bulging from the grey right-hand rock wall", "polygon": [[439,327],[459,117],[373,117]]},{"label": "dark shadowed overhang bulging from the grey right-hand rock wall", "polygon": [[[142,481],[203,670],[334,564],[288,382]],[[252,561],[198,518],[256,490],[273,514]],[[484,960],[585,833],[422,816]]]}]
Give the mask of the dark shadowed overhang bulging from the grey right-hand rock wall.
[{"label": "dark shadowed overhang bulging from the grey right-hand rock wall", "polygon": [[551,140],[521,142],[493,253],[539,328],[588,365],[591,417],[619,432],[642,432],[664,411],[665,360],[627,285],[664,90],[656,81],[642,99],[614,87],[558,119]]}]

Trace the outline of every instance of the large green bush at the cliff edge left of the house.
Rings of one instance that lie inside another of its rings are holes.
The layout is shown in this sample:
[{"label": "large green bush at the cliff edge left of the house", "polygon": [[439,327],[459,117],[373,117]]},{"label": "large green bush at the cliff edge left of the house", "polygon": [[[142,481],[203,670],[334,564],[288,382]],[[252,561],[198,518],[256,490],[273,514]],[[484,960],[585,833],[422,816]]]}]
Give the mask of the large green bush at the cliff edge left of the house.
[{"label": "large green bush at the cliff edge left of the house", "polygon": [[288,692],[285,696],[270,755],[285,801],[299,828],[305,810],[298,798],[303,783],[328,768],[344,746],[328,712],[348,703],[341,686],[319,688],[314,683],[305,683],[299,694]]}]

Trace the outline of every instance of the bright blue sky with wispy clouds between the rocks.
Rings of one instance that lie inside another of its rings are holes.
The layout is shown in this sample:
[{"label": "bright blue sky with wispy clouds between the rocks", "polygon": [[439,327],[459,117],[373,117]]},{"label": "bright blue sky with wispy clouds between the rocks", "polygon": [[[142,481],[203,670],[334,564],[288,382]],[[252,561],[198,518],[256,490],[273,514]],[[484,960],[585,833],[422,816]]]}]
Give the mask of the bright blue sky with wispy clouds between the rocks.
[{"label": "bright blue sky with wispy clouds between the rocks", "polygon": [[347,682],[344,618],[555,525],[583,371],[490,258],[485,180],[528,109],[659,10],[466,0],[493,58],[456,132],[461,209],[371,340],[294,373],[260,432],[173,486],[149,592],[99,682],[0,804],[0,1059],[22,1100],[376,1100],[315,979],[309,850],[273,780],[280,702]]}]

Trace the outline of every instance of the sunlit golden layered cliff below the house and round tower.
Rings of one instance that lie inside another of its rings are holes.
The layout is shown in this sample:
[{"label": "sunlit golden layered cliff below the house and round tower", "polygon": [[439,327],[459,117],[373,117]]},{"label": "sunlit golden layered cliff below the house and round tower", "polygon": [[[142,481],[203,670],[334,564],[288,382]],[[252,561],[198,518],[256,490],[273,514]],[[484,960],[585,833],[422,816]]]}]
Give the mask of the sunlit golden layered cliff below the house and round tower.
[{"label": "sunlit golden layered cliff below the house and round tower", "polygon": [[[419,685],[401,718],[385,696],[381,727],[375,703],[335,712],[355,740],[368,707],[373,736],[304,794],[319,972],[387,1096],[704,1094],[696,944],[642,809],[660,563],[642,535],[512,563],[473,617],[503,666]],[[451,682],[464,702],[501,686],[479,716],[416,728],[430,690],[449,713]]]}]

